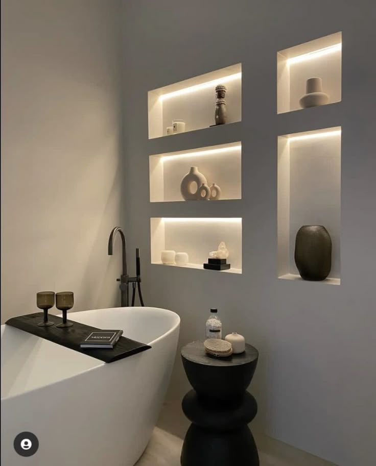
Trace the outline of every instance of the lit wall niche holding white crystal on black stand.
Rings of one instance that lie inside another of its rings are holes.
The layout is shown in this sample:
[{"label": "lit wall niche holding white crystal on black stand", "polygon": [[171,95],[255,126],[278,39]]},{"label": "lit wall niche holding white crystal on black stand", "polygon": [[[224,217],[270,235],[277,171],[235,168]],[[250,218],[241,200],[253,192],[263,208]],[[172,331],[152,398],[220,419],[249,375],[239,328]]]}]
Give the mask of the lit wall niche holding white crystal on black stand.
[{"label": "lit wall niche holding white crystal on black stand", "polygon": [[[151,262],[161,262],[163,250],[185,252],[189,255],[186,265],[166,265],[188,267],[204,270],[209,252],[217,250],[221,241],[226,243],[229,251],[227,262],[231,268],[224,273],[242,273],[242,219],[234,217],[152,217],[150,219]],[[221,273],[222,273],[221,272]]]}]

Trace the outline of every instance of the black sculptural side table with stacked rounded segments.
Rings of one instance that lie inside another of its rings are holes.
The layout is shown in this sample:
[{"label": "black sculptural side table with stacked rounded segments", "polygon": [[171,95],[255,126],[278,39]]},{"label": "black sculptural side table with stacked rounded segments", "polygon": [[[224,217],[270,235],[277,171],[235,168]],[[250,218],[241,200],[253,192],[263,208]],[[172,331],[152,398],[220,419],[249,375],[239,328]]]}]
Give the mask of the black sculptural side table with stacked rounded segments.
[{"label": "black sculptural side table with stacked rounded segments", "polygon": [[259,352],[246,345],[242,354],[215,358],[203,341],[181,350],[183,366],[193,386],[182,401],[192,422],[181,451],[181,466],[259,466],[259,454],[247,424],[257,403],[247,392]]}]

